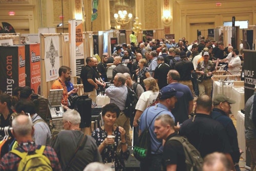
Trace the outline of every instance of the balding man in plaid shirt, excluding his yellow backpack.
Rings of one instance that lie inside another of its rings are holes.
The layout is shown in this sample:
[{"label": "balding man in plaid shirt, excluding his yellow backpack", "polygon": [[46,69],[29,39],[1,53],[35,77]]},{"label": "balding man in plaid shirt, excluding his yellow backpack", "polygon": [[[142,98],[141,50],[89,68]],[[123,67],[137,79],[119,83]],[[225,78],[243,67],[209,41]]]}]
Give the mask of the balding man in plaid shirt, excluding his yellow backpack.
[{"label": "balding man in plaid shirt, excluding his yellow backpack", "polygon": [[[38,148],[33,141],[34,127],[32,120],[26,115],[19,115],[12,121],[12,134],[18,142],[18,151],[35,151]],[[46,146],[44,155],[50,160],[53,170],[61,170],[58,157],[54,149]],[[7,153],[1,159],[0,170],[17,170],[21,158],[13,153]]]}]

